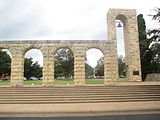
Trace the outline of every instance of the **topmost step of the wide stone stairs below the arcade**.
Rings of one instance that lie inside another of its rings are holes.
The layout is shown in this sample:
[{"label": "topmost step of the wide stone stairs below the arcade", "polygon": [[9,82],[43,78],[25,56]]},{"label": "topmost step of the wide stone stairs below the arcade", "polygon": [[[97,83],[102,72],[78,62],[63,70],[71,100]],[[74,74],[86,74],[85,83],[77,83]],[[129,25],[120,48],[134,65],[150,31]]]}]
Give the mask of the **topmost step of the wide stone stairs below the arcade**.
[{"label": "topmost step of the wide stone stairs below the arcade", "polygon": [[97,89],[94,89],[94,90],[79,90],[79,89],[72,89],[72,90],[55,90],[54,88],[52,89],[49,89],[49,90],[45,90],[45,89],[40,89],[40,90],[37,90],[37,89],[32,89],[32,88],[27,88],[27,89],[3,89],[0,91],[1,94],[9,94],[9,93],[12,93],[12,94],[30,94],[30,93],[51,93],[51,94],[61,94],[61,93],[106,93],[106,94],[109,94],[109,93],[115,93],[115,92],[118,92],[118,93],[145,93],[145,92],[155,92],[155,93],[159,93],[159,89],[154,89],[154,90],[150,90],[150,89],[109,89],[109,90],[106,90],[106,89],[102,89],[102,90],[97,90]]}]

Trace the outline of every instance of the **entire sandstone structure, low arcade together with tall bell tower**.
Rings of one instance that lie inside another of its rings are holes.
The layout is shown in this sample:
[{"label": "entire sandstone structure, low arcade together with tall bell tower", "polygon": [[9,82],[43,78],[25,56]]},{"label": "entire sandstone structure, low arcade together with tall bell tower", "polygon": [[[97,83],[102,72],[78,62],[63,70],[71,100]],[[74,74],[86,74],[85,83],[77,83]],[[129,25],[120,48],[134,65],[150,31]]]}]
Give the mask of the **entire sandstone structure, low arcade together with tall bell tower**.
[{"label": "entire sandstone structure, low arcade together with tall bell tower", "polygon": [[[107,40],[29,40],[1,41],[0,49],[8,49],[12,54],[11,86],[23,86],[24,55],[30,49],[43,53],[43,85],[52,86],[54,80],[54,54],[60,48],[69,48],[74,54],[75,85],[85,84],[85,54],[90,48],[97,48],[104,54],[105,84],[118,79],[118,56],[115,20],[124,23],[127,79],[141,81],[141,65],[138,29],[135,10],[110,9],[107,14]],[[139,75],[133,75],[138,71]]]}]

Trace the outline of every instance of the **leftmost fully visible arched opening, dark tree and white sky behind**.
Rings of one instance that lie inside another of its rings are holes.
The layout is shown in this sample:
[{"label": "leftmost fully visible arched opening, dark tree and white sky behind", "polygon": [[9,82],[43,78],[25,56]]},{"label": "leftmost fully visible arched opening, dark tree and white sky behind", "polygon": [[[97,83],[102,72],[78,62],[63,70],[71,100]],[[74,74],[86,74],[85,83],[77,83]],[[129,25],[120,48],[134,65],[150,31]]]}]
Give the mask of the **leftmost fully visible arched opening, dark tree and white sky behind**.
[{"label": "leftmost fully visible arched opening, dark tree and white sky behind", "polygon": [[42,85],[43,54],[38,49],[30,49],[24,55],[24,85]]}]

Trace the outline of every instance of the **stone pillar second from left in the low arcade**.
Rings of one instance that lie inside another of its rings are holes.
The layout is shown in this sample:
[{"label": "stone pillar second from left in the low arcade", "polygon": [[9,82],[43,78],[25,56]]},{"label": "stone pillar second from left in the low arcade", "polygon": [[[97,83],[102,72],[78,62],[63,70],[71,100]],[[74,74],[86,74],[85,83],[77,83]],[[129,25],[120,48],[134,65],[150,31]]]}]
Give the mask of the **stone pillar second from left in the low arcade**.
[{"label": "stone pillar second from left in the low arcade", "polygon": [[54,81],[54,57],[51,49],[47,47],[43,56],[43,86],[53,86]]}]

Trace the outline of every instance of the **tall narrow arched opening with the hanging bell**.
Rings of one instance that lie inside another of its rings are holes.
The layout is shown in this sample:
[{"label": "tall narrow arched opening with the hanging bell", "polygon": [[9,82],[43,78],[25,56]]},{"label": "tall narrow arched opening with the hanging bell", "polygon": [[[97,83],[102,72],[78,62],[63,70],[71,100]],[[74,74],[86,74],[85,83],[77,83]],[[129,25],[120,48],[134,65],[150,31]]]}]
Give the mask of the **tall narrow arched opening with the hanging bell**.
[{"label": "tall narrow arched opening with the hanging bell", "polygon": [[124,15],[118,15],[115,20],[116,39],[117,39],[117,55],[118,55],[118,75],[119,81],[127,81],[126,72],[126,56],[127,56],[127,18]]}]

